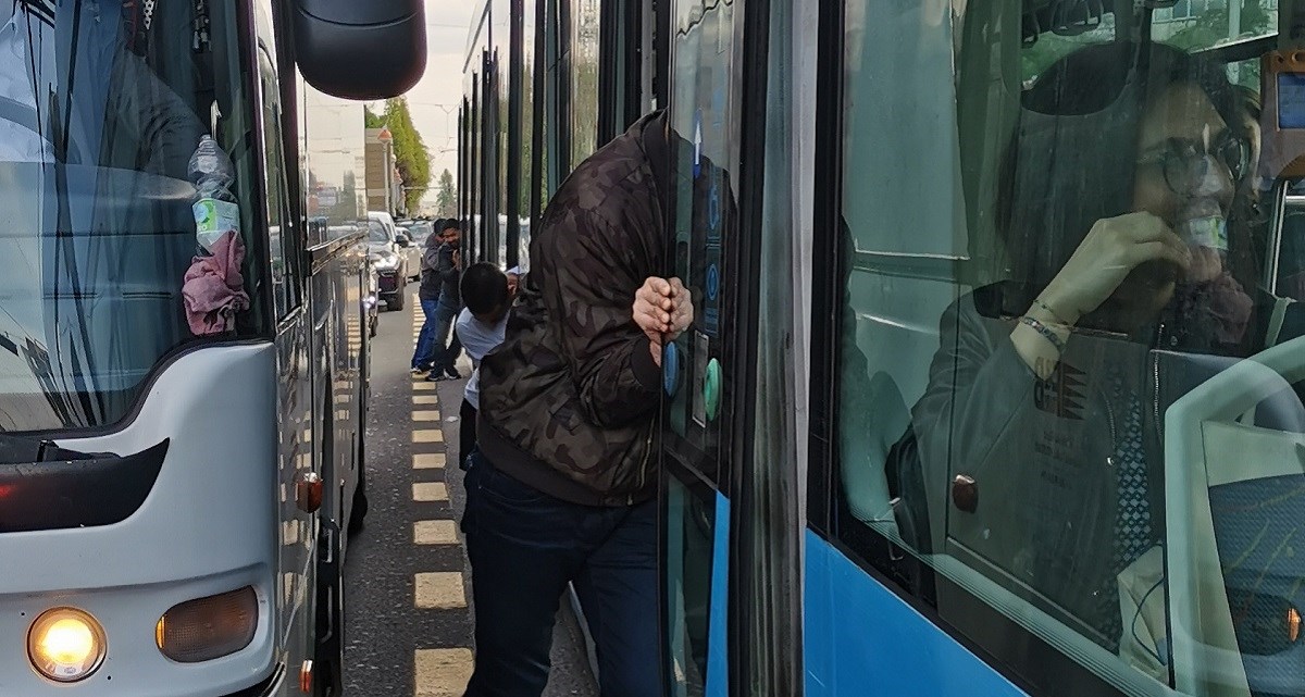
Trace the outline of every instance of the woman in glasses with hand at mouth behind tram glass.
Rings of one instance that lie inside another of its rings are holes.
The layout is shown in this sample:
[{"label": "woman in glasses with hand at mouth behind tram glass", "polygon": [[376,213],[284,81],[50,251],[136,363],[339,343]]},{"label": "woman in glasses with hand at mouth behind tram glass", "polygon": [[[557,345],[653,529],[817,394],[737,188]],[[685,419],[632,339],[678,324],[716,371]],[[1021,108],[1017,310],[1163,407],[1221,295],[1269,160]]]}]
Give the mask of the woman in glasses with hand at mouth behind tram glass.
[{"label": "woman in glasses with hand at mouth behind tram glass", "polygon": [[1266,345],[1275,299],[1235,201],[1245,108],[1220,65],[1164,46],[1094,46],[1041,74],[1002,181],[1013,279],[946,311],[914,409],[929,544],[945,529],[1112,651],[1117,577],[1164,539],[1164,410],[1208,377],[1161,354]]}]

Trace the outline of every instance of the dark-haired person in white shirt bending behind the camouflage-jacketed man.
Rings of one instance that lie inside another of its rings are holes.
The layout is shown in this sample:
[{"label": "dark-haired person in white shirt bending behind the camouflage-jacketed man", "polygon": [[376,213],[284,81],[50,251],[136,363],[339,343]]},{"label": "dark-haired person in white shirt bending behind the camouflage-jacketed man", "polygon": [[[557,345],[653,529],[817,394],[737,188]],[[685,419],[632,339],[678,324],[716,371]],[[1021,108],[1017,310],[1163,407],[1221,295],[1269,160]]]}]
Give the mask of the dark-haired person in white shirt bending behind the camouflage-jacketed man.
[{"label": "dark-haired person in white shirt bending behind the camouflage-jacketed man", "polygon": [[508,309],[517,288],[497,266],[488,261],[472,264],[462,274],[462,299],[465,308],[458,315],[454,332],[471,358],[471,379],[463,390],[462,410],[458,414],[461,429],[458,433],[458,454],[462,469],[466,469],[467,456],[476,445],[476,414],[480,410],[480,362],[485,354],[502,343],[508,329]]}]

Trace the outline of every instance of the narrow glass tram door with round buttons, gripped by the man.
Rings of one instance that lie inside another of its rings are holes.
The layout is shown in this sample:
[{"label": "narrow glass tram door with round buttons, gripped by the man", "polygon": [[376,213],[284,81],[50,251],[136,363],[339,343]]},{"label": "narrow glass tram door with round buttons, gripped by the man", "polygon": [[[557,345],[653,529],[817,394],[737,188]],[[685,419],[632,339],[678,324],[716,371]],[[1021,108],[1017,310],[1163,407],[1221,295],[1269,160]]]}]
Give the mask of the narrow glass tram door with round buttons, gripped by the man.
[{"label": "narrow glass tram door with round buttons, gripped by the man", "polygon": [[[667,269],[693,294],[693,325],[663,354],[662,559],[664,671],[675,697],[727,694],[729,427],[745,384],[735,308],[737,82],[744,3],[669,7],[673,191]],[[736,31],[736,29],[739,31]]]}]

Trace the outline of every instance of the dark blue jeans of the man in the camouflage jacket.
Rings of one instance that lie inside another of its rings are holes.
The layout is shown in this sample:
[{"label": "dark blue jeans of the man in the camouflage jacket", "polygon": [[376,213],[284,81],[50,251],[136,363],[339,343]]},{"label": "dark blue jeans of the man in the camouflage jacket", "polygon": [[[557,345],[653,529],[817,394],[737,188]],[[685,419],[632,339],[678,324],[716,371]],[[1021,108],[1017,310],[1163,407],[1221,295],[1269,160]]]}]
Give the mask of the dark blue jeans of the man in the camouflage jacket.
[{"label": "dark blue jeans of the man in the camouflage jacket", "polygon": [[660,697],[656,503],[583,506],[502,474],[479,450],[468,462],[476,663],[465,697],[543,692],[568,582],[598,646],[602,696]]}]

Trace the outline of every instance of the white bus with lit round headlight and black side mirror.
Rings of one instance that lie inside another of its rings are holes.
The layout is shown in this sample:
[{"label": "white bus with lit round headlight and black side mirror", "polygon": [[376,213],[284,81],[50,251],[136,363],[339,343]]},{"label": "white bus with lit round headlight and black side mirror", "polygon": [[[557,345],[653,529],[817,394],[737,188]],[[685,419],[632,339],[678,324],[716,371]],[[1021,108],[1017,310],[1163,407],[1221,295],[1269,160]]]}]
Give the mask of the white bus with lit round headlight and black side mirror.
[{"label": "white bus with lit round headlight and black side mirror", "polygon": [[341,692],[375,302],[342,98],[424,56],[415,0],[0,8],[0,694]]}]

